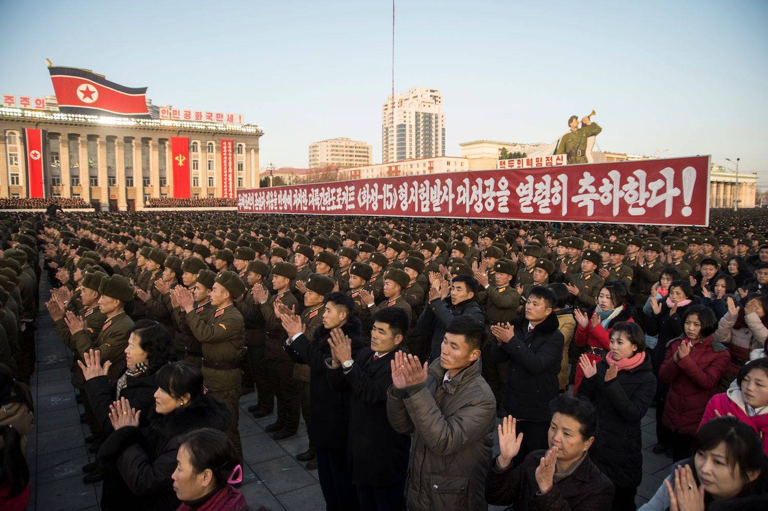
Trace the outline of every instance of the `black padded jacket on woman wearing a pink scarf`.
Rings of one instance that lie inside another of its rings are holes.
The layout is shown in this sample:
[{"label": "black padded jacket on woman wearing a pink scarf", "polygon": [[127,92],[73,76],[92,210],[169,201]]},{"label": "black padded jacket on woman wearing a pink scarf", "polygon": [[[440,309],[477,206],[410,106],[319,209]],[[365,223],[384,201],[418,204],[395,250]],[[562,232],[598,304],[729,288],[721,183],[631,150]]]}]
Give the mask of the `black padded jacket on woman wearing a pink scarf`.
[{"label": "black padded jacket on woman wearing a pink scarf", "polygon": [[581,380],[578,388],[578,395],[588,397],[598,408],[600,428],[590,455],[615,486],[638,486],[643,478],[640,426],[656,393],[656,377],[648,356],[606,383],[607,370],[607,362],[601,360],[598,373]]}]

